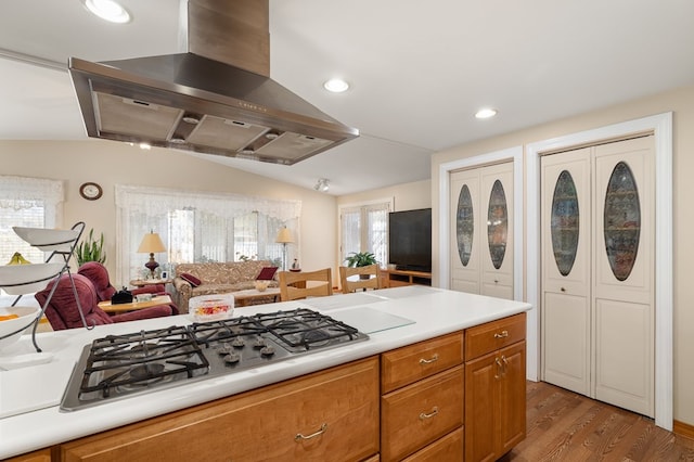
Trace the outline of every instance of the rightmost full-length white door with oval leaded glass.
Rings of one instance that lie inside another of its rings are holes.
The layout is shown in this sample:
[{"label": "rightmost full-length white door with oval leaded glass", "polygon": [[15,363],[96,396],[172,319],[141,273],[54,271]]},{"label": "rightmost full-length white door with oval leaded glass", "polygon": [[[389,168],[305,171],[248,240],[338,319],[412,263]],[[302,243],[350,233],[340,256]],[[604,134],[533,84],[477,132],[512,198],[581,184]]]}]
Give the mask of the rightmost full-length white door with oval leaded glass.
[{"label": "rightmost full-length white door with oval leaded glass", "polygon": [[653,137],[594,162],[594,397],[654,416]]}]

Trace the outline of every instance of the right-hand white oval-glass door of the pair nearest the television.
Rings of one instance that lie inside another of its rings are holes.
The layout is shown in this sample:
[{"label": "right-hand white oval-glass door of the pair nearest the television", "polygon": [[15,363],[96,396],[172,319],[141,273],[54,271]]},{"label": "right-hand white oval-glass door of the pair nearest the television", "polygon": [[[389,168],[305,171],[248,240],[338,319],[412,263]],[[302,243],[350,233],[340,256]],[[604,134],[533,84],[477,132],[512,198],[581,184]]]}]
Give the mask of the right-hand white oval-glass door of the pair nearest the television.
[{"label": "right-hand white oval-glass door of the pair nearest the television", "polygon": [[480,188],[485,223],[480,293],[513,299],[513,164],[485,167]]}]

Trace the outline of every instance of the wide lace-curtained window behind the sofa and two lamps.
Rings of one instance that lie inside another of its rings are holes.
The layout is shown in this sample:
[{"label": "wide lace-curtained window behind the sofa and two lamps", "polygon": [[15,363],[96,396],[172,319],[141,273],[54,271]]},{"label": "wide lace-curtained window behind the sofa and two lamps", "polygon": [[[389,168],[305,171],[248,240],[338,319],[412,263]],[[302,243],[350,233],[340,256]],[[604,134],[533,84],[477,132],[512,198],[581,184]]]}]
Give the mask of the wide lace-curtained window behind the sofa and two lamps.
[{"label": "wide lace-curtained window behind the sofa and two lamps", "polygon": [[[121,284],[142,277],[146,255],[142,236],[157,232],[166,253],[155,255],[160,269],[181,262],[270,260],[282,266],[284,247],[275,242],[286,226],[298,235],[299,201],[268,200],[228,193],[200,193],[116,187],[117,261]],[[298,258],[298,242],[287,260]]]}]

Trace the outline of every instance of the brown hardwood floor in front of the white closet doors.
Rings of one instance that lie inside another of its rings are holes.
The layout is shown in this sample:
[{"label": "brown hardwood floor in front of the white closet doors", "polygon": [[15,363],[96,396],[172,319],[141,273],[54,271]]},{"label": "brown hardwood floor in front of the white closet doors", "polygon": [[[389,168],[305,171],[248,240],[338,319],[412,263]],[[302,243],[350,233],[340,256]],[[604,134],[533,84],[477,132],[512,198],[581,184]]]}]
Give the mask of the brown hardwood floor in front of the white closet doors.
[{"label": "brown hardwood floor in front of the white closet doors", "polygon": [[694,461],[694,440],[654,421],[542,382],[527,383],[527,438],[500,459]]}]

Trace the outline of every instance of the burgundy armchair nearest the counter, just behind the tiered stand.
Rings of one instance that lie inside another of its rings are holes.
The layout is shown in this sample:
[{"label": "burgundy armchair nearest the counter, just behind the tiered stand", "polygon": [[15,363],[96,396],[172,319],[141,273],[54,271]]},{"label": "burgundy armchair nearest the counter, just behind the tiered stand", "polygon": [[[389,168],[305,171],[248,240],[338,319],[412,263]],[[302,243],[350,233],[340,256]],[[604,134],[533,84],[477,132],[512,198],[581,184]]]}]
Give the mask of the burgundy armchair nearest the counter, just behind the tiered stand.
[{"label": "burgundy armchair nearest the counter, just behind the tiered stand", "polygon": [[[99,298],[94,284],[82,274],[73,274],[79,306],[85,315],[87,325],[112,324],[114,322],[137,321],[140,319],[159,318],[174,315],[171,307],[168,305],[159,305],[152,308],[145,308],[137,311],[130,311],[123,315],[108,316],[99,308]],[[77,307],[77,300],[73,293],[73,284],[70,284],[69,275],[63,274],[57,279],[49,282],[48,286],[41,292],[37,292],[34,296],[38,303],[43,306],[51,288],[57,284],[55,293],[49,305],[46,307],[46,317],[53,330],[83,328],[81,317]]]}]

